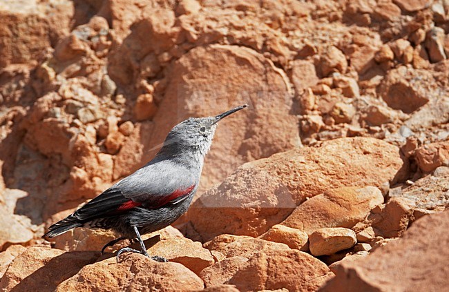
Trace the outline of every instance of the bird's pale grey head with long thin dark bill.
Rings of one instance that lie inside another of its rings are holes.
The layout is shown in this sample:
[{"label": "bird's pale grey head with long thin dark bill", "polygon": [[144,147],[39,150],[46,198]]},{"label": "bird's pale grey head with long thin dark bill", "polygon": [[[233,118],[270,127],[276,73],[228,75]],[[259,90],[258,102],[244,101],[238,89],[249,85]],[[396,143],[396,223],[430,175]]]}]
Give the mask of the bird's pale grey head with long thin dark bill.
[{"label": "bird's pale grey head with long thin dark bill", "polygon": [[199,151],[202,155],[206,155],[211,147],[218,121],[247,106],[247,104],[238,106],[215,117],[191,117],[186,119],[171,129],[165,139],[163,148],[173,148],[173,150],[181,148]]}]

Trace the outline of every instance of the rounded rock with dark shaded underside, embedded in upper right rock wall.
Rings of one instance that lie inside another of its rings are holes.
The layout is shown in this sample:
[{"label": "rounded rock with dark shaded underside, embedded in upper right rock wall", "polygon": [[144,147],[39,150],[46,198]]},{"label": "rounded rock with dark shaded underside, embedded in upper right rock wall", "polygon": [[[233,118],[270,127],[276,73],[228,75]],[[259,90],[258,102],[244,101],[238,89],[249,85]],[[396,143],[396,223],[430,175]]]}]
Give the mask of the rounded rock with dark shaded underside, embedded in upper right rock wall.
[{"label": "rounded rock with dark shaded underside, embedded in upper right rock wall", "polygon": [[379,93],[390,108],[412,113],[432,98],[433,86],[434,78],[428,71],[399,67],[387,73]]}]

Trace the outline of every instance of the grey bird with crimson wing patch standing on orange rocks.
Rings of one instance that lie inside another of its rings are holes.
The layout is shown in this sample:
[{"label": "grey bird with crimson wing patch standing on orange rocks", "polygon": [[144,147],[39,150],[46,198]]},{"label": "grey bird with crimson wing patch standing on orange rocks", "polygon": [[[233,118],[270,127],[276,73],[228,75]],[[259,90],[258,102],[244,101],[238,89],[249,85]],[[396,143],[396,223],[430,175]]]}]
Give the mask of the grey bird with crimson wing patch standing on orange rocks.
[{"label": "grey bird with crimson wing patch standing on orange rocks", "polygon": [[[120,240],[140,243],[140,250],[124,247],[117,252],[117,262],[125,252],[150,257],[141,235],[169,226],[187,212],[195,195],[204,157],[209,152],[218,121],[236,113],[244,104],[213,117],[190,117],[174,126],[155,157],[137,171],[124,177],[63,220],[52,224],[44,238],[66,233],[72,228],[103,228],[121,236]],[[154,255],[151,259],[166,262]]]}]

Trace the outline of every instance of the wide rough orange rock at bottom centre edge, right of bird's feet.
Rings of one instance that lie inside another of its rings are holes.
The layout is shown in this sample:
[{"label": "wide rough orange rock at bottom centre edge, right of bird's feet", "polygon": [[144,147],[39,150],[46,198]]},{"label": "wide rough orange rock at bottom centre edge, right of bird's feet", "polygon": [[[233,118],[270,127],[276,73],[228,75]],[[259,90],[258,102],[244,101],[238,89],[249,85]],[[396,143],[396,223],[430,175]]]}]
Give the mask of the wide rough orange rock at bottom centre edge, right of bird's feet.
[{"label": "wide rough orange rock at bottom centre edge, right of bird's feet", "polygon": [[323,262],[302,251],[268,249],[249,258],[229,257],[204,269],[201,277],[207,287],[232,284],[239,291],[314,291],[329,278],[328,271]]}]

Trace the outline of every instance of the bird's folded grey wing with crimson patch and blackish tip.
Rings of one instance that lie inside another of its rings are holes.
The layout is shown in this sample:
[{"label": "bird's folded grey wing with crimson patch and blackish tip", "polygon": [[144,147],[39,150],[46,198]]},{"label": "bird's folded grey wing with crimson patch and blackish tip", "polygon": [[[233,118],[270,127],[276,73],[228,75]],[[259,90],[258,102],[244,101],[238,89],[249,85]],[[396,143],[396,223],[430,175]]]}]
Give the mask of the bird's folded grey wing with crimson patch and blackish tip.
[{"label": "bird's folded grey wing with crimson patch and blackish tip", "polygon": [[197,187],[197,179],[187,169],[160,162],[140,168],[111,186],[73,215],[78,220],[108,217],[142,206],[160,208],[177,204]]}]

